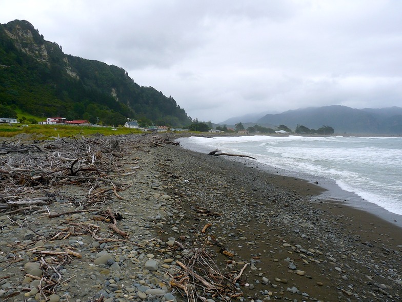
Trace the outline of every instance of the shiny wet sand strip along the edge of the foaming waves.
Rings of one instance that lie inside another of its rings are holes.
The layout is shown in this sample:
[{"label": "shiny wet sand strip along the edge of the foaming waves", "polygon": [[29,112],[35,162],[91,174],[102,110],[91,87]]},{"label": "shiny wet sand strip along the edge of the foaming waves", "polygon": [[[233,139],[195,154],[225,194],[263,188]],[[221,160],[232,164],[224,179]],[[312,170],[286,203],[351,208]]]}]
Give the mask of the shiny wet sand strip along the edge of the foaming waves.
[{"label": "shiny wet sand strip along the edge of the foaming waves", "polygon": [[[217,135],[219,136],[219,135]],[[180,143],[180,139],[177,139]],[[188,144],[187,146],[181,145],[183,148],[190,149],[194,152],[200,152],[200,153],[208,153],[211,150],[207,149],[200,149],[199,145],[191,145]],[[198,147],[198,149],[197,149]],[[312,200],[317,200],[317,201],[326,201],[326,202],[331,202],[331,203],[340,203],[343,204],[344,206],[349,206],[353,207],[353,209],[360,210],[367,212],[369,214],[372,214],[376,216],[377,218],[383,219],[386,222],[392,223],[396,225],[398,228],[402,229],[402,215],[390,212],[383,207],[370,202],[364,198],[361,198],[360,196],[354,194],[353,192],[349,192],[344,190],[343,188],[339,187],[335,183],[334,180],[324,178],[324,177],[318,177],[312,174],[307,174],[307,173],[302,173],[302,172],[295,172],[295,171],[288,171],[282,168],[278,168],[275,166],[271,166],[269,164],[264,164],[260,162],[253,162],[251,160],[247,160],[244,158],[227,158],[228,160],[235,160],[238,162],[242,162],[243,164],[250,166],[250,167],[255,167],[260,169],[260,171],[263,171],[265,173],[270,173],[273,175],[279,174],[287,177],[296,177],[303,179],[307,182],[310,182],[312,184],[317,184],[319,187],[323,188],[322,192],[317,194],[317,196],[313,197]]]}]

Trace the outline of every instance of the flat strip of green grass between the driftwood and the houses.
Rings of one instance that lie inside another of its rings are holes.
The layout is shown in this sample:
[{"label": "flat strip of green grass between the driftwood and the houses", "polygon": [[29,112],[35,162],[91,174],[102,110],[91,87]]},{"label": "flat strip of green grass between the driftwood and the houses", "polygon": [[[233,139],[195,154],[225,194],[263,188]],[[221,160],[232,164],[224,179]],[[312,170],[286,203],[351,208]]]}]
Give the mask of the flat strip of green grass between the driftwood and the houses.
[{"label": "flat strip of green grass between the driftwood and the houses", "polygon": [[[21,127],[28,125],[28,127]],[[0,137],[13,137],[18,134],[31,135],[33,139],[53,139],[57,137],[81,137],[94,134],[122,135],[141,133],[140,130],[125,127],[80,127],[63,125],[0,124]]]}]

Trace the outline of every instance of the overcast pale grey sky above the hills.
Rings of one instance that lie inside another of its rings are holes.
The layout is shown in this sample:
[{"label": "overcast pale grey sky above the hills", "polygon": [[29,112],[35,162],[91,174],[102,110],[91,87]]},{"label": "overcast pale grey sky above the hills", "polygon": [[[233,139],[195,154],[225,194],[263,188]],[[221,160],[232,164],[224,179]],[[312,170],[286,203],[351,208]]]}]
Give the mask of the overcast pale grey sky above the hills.
[{"label": "overcast pale grey sky above the hills", "polygon": [[117,65],[222,122],[309,106],[402,106],[400,0],[0,0],[67,54]]}]

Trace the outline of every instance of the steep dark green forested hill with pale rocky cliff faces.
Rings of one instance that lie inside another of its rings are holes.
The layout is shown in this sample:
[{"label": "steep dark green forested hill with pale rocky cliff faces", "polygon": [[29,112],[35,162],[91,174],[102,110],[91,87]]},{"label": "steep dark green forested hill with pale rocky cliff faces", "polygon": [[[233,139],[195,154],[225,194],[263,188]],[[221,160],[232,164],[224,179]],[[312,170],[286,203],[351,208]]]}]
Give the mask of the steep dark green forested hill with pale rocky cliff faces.
[{"label": "steep dark green forested hill with pale rocky cliff faces", "polygon": [[123,68],[63,53],[19,20],[0,24],[0,116],[15,108],[38,117],[98,118],[105,125],[126,118],[171,126],[191,122],[172,97],[139,86]]}]

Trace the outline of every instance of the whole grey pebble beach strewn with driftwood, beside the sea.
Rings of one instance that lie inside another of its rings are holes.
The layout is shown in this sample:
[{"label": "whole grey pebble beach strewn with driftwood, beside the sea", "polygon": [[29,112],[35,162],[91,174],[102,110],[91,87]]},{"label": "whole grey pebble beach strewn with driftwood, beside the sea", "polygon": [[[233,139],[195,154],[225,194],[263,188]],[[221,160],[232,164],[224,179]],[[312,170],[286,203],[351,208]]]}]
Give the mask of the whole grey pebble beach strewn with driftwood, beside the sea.
[{"label": "whole grey pebble beach strewn with driftwood, beside the sea", "polygon": [[0,301],[402,300],[401,230],[312,183],[150,135],[30,144],[0,149]]}]

